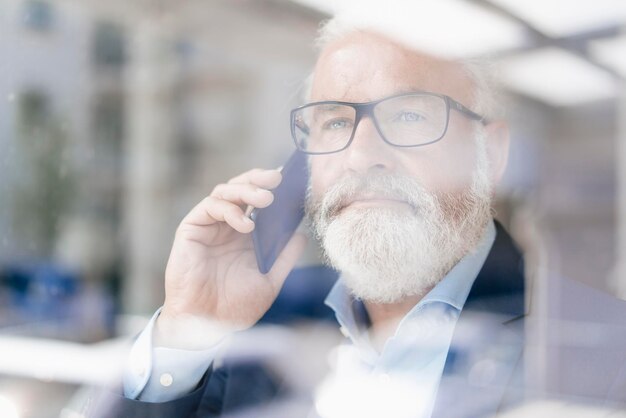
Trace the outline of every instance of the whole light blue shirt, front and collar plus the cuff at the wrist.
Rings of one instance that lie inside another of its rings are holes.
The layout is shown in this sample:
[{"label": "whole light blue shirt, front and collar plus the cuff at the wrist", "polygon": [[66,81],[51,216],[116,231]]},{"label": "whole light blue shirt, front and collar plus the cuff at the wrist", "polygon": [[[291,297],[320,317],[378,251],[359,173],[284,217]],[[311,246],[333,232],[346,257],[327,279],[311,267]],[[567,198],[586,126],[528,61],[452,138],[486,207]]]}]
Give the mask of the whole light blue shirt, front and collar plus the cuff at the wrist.
[{"label": "whole light blue shirt, front and collar plus the cuff at the wrist", "polygon": [[[416,410],[415,416],[430,416],[454,327],[495,235],[495,226],[490,222],[478,247],[409,311],[380,353],[369,341],[362,303],[350,295],[340,278],[325,303],[335,311],[342,332],[352,344],[338,351],[336,382],[355,373],[410,382],[408,387],[413,385],[422,394],[420,405],[411,406]],[[164,402],[189,393],[218,350],[153,347],[152,332],[158,314],[159,311],[154,314],[131,350],[124,374],[124,394],[128,398]]]}]

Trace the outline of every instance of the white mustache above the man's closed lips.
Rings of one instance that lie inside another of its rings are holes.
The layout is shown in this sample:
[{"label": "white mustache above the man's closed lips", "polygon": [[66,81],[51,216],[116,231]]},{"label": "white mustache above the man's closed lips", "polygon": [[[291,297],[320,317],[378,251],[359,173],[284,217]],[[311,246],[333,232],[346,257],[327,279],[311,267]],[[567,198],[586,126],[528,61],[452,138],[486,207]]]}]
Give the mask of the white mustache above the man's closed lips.
[{"label": "white mustache above the man's closed lips", "polygon": [[[412,178],[396,174],[349,175],[336,181],[318,202],[309,204],[309,211],[332,219],[343,208],[363,198],[392,199],[407,203],[415,213],[432,208],[435,196]],[[314,200],[309,190],[309,203]]]}]

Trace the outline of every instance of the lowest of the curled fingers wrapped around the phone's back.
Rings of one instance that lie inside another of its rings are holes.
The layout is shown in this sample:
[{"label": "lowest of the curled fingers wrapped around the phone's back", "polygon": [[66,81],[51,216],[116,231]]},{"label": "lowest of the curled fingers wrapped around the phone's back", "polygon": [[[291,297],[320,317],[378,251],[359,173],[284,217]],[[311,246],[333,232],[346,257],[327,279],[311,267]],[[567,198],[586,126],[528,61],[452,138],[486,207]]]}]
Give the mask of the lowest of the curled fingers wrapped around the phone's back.
[{"label": "lowest of the curled fingers wrapped around the phone's back", "polygon": [[182,224],[208,226],[217,222],[226,222],[241,233],[248,233],[254,229],[254,222],[245,216],[238,205],[211,196],[197,204],[183,219]]}]

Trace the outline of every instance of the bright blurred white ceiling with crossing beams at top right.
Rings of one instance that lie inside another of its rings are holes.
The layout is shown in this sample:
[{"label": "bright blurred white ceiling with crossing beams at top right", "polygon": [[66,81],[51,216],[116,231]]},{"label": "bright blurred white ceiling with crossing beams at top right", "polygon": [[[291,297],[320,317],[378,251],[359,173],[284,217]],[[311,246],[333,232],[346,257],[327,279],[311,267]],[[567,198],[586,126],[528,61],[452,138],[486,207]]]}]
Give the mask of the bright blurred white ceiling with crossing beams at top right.
[{"label": "bright blurred white ceiling with crossing beams at top right", "polygon": [[446,58],[489,56],[509,90],[551,106],[612,100],[626,80],[626,0],[292,1]]}]

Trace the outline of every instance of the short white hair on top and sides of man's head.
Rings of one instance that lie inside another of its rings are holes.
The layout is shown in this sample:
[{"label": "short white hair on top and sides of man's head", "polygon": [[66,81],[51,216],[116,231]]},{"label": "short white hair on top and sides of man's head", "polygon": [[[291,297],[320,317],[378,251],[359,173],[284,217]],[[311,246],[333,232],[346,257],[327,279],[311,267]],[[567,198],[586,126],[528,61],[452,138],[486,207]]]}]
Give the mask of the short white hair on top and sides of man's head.
[{"label": "short white hair on top and sides of man's head", "polygon": [[[321,23],[314,46],[319,53],[331,42],[350,33],[369,30],[371,29],[367,26],[361,27],[341,19],[331,18]],[[504,118],[504,107],[500,103],[500,92],[496,82],[495,63],[489,57],[459,59],[456,62],[474,84],[470,108],[488,120]],[[311,97],[313,75],[312,72],[304,81],[303,96],[305,101],[309,101]]]}]

